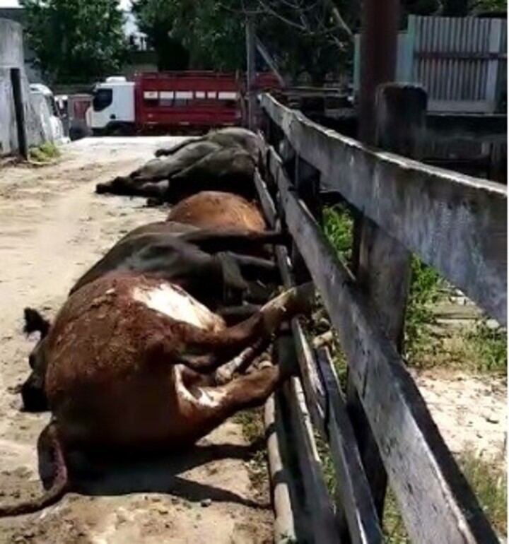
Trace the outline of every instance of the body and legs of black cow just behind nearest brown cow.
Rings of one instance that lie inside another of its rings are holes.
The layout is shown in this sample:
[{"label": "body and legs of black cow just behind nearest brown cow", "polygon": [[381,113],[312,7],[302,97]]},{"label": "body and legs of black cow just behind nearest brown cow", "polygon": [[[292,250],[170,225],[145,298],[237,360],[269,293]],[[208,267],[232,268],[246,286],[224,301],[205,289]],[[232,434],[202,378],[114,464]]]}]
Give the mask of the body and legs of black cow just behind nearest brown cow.
[{"label": "body and legs of black cow just behind nearest brown cow", "polygon": [[129,232],[76,281],[71,294],[105,273],[136,271],[177,283],[216,309],[226,292],[249,294],[249,280],[279,277],[272,261],[252,254],[264,244],[284,242],[281,232],[198,229],[175,234],[175,228],[181,225],[150,223]]}]

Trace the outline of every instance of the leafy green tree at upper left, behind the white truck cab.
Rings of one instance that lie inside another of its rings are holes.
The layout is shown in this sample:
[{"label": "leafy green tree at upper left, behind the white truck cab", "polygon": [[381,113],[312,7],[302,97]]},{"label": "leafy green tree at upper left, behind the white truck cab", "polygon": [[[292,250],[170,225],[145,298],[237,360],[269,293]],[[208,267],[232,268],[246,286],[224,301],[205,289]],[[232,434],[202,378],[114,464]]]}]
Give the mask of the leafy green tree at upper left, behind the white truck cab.
[{"label": "leafy green tree at upper left, behind the white truck cab", "polygon": [[51,83],[117,71],[126,43],[118,0],[21,0],[28,43]]}]

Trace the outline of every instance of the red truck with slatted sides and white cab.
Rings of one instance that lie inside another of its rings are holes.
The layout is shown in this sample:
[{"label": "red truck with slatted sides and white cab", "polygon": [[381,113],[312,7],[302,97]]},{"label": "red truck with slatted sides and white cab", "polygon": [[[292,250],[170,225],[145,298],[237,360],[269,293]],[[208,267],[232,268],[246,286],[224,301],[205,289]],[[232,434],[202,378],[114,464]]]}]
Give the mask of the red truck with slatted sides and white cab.
[{"label": "red truck with slatted sides and white cab", "polygon": [[[245,119],[245,78],[211,71],[141,73],[134,81],[110,77],[97,83],[87,122],[94,134],[134,134],[240,125]],[[272,73],[259,73],[257,90],[281,88]]]}]

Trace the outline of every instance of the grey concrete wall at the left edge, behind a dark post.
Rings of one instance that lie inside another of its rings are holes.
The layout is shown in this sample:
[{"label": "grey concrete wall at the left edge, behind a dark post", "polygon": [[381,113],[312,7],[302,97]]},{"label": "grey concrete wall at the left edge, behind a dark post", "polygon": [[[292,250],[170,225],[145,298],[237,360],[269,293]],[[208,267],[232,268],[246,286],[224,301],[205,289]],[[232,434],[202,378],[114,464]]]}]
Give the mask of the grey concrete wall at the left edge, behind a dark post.
[{"label": "grey concrete wall at the left edge, behind a dark post", "polygon": [[45,141],[45,135],[42,120],[31,101],[30,86],[24,69],[23,30],[13,20],[0,19],[0,155],[15,153],[18,149],[11,68],[21,70],[28,145],[38,146]]}]

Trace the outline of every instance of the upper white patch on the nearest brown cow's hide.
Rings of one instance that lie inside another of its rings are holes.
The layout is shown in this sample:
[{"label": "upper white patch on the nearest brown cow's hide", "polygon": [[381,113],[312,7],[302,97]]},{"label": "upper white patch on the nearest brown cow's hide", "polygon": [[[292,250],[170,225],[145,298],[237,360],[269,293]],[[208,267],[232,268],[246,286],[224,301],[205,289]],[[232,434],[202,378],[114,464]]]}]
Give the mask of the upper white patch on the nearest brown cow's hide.
[{"label": "upper white patch on the nearest brown cow's hide", "polygon": [[156,312],[199,329],[221,331],[225,327],[221,317],[213,314],[178,285],[160,283],[156,288],[136,287],[132,290],[132,297]]}]

